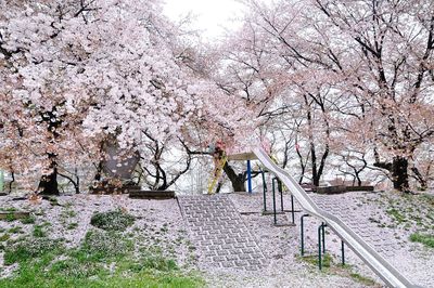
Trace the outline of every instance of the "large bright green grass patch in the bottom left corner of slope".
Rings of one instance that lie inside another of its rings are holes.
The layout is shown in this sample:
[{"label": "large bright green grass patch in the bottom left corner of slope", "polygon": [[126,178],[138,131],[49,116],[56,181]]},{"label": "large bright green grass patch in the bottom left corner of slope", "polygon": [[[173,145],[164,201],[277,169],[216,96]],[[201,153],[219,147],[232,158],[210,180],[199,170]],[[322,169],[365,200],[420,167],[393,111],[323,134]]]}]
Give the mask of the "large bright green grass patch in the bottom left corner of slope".
[{"label": "large bright green grass patch in the bottom left corner of slope", "polygon": [[13,277],[0,279],[0,287],[204,286],[197,274],[186,274],[174,260],[154,250],[135,257],[133,250],[125,235],[100,230],[88,232],[81,245],[69,250],[49,238],[23,239],[5,249],[4,263],[20,267]]}]

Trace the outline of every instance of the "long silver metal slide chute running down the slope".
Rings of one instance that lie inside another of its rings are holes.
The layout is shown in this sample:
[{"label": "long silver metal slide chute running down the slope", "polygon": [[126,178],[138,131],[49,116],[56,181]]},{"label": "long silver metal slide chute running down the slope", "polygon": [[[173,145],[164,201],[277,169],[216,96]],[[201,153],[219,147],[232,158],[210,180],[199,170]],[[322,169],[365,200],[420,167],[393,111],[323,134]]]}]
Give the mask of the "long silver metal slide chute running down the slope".
[{"label": "long silver metal slide chute running down the slope", "polygon": [[[352,228],[349,228],[337,217],[320,209],[307,195],[307,193],[298,185],[298,183],[283,169],[278,167],[272,159],[261,148],[256,148],[253,154],[259,159],[266,169],[271,171],[279,178],[283,184],[290,189],[295,199],[298,200],[303,210],[311,215],[320,219],[323,223],[318,227],[318,250],[319,264],[321,263],[321,254],[326,250],[324,227],[330,227],[342,240],[342,252],[344,261],[344,243],[379,275],[390,287],[418,287],[410,283],[395,267],[393,267],[383,257],[381,257],[371,246],[369,246],[361,237],[359,237]],[[303,225],[302,225],[303,228]],[[302,232],[303,233],[303,232]],[[303,236],[302,236],[303,241]],[[322,243],[322,247],[321,247]],[[321,249],[322,248],[322,249]],[[302,249],[304,247],[302,246]],[[302,250],[302,254],[303,254]]]}]

